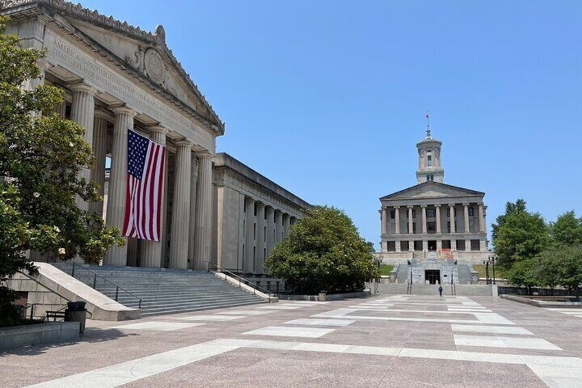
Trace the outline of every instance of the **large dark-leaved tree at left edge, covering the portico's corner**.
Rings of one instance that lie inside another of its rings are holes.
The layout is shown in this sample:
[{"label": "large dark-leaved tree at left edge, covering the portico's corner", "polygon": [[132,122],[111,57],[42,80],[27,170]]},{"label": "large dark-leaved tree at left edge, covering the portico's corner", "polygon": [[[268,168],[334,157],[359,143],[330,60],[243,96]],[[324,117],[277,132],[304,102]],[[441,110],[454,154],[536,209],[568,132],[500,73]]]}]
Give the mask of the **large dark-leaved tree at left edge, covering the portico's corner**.
[{"label": "large dark-leaved tree at left edge, covering the portico's corner", "polygon": [[[93,163],[91,146],[84,128],[56,115],[58,88],[22,87],[40,78],[36,63],[44,52],[4,34],[6,20],[0,17],[0,280],[34,272],[29,249],[95,263],[123,243],[119,230],[75,205],[75,198],[100,200],[95,183],[78,177]],[[0,288],[0,309],[9,308],[12,296]]]}]

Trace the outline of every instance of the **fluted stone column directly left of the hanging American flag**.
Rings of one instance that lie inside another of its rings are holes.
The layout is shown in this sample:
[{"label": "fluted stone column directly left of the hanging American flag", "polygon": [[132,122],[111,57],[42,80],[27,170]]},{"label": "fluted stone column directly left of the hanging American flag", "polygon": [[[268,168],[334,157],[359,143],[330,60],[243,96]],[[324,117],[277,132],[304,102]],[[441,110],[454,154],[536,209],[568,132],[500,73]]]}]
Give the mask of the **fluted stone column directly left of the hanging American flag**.
[{"label": "fluted stone column directly left of the hanging American flag", "polygon": [[[133,117],[136,112],[126,106],[120,106],[113,109],[113,113],[115,127],[107,196],[107,225],[121,230],[124,228],[126,215],[128,128],[133,128]],[[124,266],[126,263],[127,245],[111,247],[107,251],[104,264]]]}]

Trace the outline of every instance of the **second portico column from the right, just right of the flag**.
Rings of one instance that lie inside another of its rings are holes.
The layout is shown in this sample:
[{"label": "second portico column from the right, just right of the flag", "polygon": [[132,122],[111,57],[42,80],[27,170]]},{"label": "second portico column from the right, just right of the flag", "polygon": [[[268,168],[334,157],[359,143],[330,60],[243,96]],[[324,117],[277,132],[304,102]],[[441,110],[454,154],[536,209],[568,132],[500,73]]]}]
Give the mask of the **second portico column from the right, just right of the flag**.
[{"label": "second portico column from the right, just right of the flag", "polygon": [[188,242],[190,229],[190,180],[192,144],[176,142],[174,167],[174,197],[172,200],[172,236],[170,237],[170,268],[188,268]]}]

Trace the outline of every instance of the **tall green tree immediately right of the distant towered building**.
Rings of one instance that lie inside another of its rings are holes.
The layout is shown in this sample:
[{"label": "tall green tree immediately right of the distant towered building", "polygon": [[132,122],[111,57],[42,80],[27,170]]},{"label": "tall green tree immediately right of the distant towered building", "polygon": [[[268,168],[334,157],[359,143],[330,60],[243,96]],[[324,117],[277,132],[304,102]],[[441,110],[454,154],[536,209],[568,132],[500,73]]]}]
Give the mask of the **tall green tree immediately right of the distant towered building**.
[{"label": "tall green tree immediately right of the distant towered building", "polygon": [[546,221],[541,214],[528,212],[522,199],[507,203],[505,214],[498,216],[491,235],[499,264],[506,269],[534,258],[550,243]]}]

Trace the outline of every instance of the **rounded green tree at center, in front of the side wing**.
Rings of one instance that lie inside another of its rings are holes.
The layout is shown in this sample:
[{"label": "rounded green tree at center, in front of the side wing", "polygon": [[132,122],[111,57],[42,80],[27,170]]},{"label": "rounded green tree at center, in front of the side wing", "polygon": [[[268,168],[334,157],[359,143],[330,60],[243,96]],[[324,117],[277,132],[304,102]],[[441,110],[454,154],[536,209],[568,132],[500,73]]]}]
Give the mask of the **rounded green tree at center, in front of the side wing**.
[{"label": "rounded green tree at center, in front of the side wing", "polygon": [[294,293],[362,290],[380,275],[352,220],[334,207],[314,206],[292,225],[265,262]]}]

